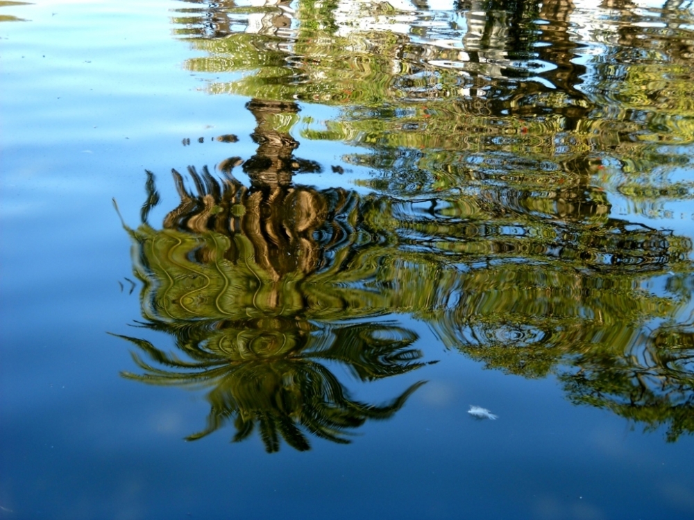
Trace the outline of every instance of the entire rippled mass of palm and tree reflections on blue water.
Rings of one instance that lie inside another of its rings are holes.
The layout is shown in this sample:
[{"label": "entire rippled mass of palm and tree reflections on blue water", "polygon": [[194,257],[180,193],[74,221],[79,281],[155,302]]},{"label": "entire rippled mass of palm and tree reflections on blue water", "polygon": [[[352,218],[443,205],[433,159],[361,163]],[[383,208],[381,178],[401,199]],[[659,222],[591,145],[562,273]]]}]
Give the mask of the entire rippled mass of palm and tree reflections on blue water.
[{"label": "entire rippled mass of palm and tree reflections on blue water", "polygon": [[[128,338],[142,372],[124,375],[210,388],[189,438],[233,421],[236,440],[307,449],[390,417],[417,385],[372,406],[325,362],[362,381],[421,367],[416,333],[375,320],[398,313],[576,404],[694,431],[691,237],[644,223],[694,195],[684,3],[606,2],[600,26],[570,1],[191,3],[176,33],[206,55],[185,66],[234,73],[207,89],[251,98],[257,151],[174,171],[161,229],[149,173],[128,229],[142,326],[190,361]],[[300,138],[354,145],[341,161],[371,170],[369,193],[295,182],[321,171]]]}]

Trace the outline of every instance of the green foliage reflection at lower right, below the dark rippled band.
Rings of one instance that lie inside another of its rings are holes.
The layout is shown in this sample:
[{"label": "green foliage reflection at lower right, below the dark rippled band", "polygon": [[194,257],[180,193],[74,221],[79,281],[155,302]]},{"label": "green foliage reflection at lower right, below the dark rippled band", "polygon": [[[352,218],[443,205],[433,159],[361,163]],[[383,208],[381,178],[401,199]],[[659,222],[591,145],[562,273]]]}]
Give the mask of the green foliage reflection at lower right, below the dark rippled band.
[{"label": "green foliage reflection at lower right, below the dark rippled band", "polygon": [[649,277],[624,272],[518,266],[506,270],[502,284],[480,272],[466,280],[477,279],[461,296],[466,310],[434,327],[486,367],[555,374],[575,404],[606,408],[648,430],[665,425],[674,441],[694,432],[694,345],[691,326],[661,320],[691,304],[691,266],[668,277],[670,290],[655,297],[639,288]]}]

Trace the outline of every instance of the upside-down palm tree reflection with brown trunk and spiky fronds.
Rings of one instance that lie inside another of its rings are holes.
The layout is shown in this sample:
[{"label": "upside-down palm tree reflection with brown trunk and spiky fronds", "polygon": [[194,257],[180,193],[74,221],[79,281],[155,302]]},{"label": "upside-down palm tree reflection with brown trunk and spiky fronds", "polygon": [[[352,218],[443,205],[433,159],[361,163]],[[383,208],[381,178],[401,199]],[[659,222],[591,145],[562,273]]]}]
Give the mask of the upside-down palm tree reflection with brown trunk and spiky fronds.
[{"label": "upside-down palm tree reflection with brown trunk and spiky fronds", "polygon": [[[221,164],[222,180],[190,168],[193,191],[174,171],[180,205],[158,230],[147,223],[160,200],[148,172],[142,225],[129,230],[145,284],[141,326],[172,336],[185,358],[120,336],[137,347],[142,370],[123,375],[210,389],[208,425],[188,440],[232,422],[233,440],[257,429],[269,452],[280,439],[309,449],[307,433],[349,442],[367,419],[396,413],[421,383],[377,406],[353,399],[330,365],[347,367],[359,381],[405,374],[423,365],[411,347],[417,336],[391,322],[344,322],[387,308],[375,291],[349,286],[375,271],[358,247],[345,250],[355,239],[353,193],[292,186],[294,173],[318,168],[294,156],[298,143],[282,130],[296,105],[256,100],[248,108],[258,144],[243,163],[251,187],[232,176],[239,163],[233,157]],[[355,267],[342,272],[349,262]]]}]

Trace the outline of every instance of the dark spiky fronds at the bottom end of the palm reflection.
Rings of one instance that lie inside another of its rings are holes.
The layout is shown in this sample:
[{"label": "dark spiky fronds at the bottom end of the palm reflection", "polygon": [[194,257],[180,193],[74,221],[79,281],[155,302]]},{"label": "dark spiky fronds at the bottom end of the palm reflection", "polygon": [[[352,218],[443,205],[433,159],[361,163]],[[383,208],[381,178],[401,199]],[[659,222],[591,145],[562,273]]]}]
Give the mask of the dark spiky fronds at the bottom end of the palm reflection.
[{"label": "dark spiky fronds at the bottom end of the palm reflection", "polygon": [[[172,331],[162,324],[154,328]],[[214,329],[210,334],[211,327]],[[208,327],[174,328],[178,347],[193,361],[182,361],[151,343],[120,336],[139,347],[157,368],[133,354],[144,374],[124,372],[146,383],[211,388],[212,410],[196,440],[233,421],[235,441],[257,426],[269,452],[278,451],[280,437],[298,450],[309,449],[302,429],[334,442],[366,419],[387,419],[416,388],[383,406],[353,400],[325,366],[348,365],[362,381],[408,372],[421,365],[421,352],[408,349],[416,336],[389,324],[351,324],[320,329],[308,322],[260,320],[216,322]]]}]

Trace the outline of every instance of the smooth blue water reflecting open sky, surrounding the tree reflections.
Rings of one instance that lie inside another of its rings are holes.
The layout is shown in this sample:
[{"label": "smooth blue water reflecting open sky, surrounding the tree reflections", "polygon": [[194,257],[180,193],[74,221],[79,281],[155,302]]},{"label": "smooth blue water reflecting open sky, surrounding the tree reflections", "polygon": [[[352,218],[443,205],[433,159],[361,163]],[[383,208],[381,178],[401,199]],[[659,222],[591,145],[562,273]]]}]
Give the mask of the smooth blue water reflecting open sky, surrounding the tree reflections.
[{"label": "smooth blue water reflecting open sky, surrounding the tree reflections", "polygon": [[[430,379],[391,422],[369,424],[350,447],[265,456],[260,440],[230,445],[183,435],[205,419],[203,394],[121,379],[139,315],[130,242],[111,205],[135,225],[144,168],[158,175],[160,223],[178,198],[171,168],[250,157],[246,98],[201,92],[193,55],[171,37],[168,1],[42,1],[3,8],[31,21],[1,24],[0,505],[18,519],[300,516],[458,518],[691,518],[692,437],[666,445],[623,419],[566,402],[552,379],[506,376],[442,349],[421,322],[416,374],[366,388],[393,395]],[[52,13],[55,12],[56,15]],[[46,58],[43,58],[43,56]],[[88,63],[87,63],[88,62]],[[213,78],[214,79],[214,78]],[[60,99],[58,99],[60,98]],[[301,104],[301,116],[335,109]],[[349,148],[298,135],[298,157],[330,171]],[[210,141],[234,133],[237,144]],[[181,139],[192,139],[182,146]],[[205,137],[204,144],[195,139]],[[85,153],[88,150],[90,153]],[[321,187],[364,177],[301,175]],[[677,175],[691,178],[691,173]],[[240,176],[240,175],[239,175]],[[366,191],[363,188],[358,188]],[[672,219],[613,213],[692,235],[691,202]],[[680,215],[682,215],[680,217]],[[165,342],[164,336],[151,336]],[[340,374],[341,375],[341,374]],[[64,387],[64,388],[63,388]],[[474,404],[497,413],[474,422]],[[296,514],[295,514],[296,513]]]}]

